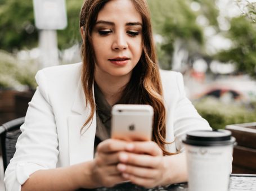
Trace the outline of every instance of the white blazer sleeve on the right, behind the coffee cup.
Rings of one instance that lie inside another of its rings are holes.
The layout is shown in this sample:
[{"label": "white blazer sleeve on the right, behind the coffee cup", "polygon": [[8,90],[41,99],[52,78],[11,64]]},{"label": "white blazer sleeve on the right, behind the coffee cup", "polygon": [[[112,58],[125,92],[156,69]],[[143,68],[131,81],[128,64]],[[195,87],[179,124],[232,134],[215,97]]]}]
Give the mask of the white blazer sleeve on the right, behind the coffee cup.
[{"label": "white blazer sleeve on the right, behind the coffee cup", "polygon": [[178,87],[178,99],[174,107],[173,129],[176,149],[184,151],[182,139],[188,131],[191,130],[212,130],[209,123],[203,119],[196,111],[191,101],[186,97],[183,84],[183,76],[181,73],[176,73],[176,82]]}]

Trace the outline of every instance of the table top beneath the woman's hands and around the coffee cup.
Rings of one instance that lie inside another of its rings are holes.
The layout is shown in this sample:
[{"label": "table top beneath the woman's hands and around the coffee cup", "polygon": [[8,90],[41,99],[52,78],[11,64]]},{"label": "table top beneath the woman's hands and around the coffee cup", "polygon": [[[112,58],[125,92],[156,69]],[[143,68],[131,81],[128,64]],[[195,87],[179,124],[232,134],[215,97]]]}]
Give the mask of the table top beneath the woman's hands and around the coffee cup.
[{"label": "table top beneath the woman's hands and around the coffee cup", "polygon": [[[79,189],[84,191],[188,191],[187,183],[172,184],[168,187],[146,189],[132,183],[123,183],[113,188]],[[232,174],[228,191],[256,191],[256,175]]]}]

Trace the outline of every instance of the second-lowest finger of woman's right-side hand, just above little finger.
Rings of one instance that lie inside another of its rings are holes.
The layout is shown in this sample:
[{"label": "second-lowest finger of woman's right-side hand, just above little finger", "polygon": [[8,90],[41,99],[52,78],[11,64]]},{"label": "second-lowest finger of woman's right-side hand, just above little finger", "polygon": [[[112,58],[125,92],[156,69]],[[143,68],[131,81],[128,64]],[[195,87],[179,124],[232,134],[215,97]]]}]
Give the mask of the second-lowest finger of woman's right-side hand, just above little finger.
[{"label": "second-lowest finger of woman's right-side hand, just above little finger", "polygon": [[131,165],[126,165],[124,163],[119,163],[117,165],[117,169],[120,172],[123,172],[124,174],[130,174],[130,175],[138,176],[140,178],[154,179],[155,177],[159,176],[158,171],[156,169],[131,166]]}]

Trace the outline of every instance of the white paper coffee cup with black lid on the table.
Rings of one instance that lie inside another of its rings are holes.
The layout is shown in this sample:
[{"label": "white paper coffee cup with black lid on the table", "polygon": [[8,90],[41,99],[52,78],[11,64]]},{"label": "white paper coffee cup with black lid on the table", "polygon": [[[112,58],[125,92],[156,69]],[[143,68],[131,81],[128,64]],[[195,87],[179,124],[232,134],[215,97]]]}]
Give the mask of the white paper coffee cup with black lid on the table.
[{"label": "white paper coffee cup with black lid on the table", "polygon": [[235,138],[228,130],[190,131],[185,143],[189,191],[227,191]]}]

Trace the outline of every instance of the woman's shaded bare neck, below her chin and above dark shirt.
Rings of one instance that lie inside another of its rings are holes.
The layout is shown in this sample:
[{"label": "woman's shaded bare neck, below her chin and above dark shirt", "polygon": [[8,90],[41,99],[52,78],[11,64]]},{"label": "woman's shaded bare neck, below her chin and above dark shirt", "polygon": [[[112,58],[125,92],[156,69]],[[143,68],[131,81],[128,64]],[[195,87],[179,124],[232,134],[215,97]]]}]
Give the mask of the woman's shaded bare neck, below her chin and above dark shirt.
[{"label": "woman's shaded bare neck, below her chin and above dark shirt", "polygon": [[104,95],[106,101],[113,106],[119,101],[122,90],[125,88],[131,78],[131,74],[125,76],[102,75],[95,72],[95,81]]}]

